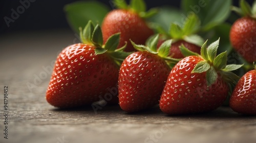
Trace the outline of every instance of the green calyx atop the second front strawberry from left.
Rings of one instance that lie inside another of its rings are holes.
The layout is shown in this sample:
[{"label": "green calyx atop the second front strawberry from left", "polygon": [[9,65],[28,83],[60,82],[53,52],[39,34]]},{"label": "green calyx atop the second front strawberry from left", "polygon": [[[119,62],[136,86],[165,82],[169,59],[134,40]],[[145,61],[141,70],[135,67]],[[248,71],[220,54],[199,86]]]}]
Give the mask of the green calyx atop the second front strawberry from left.
[{"label": "green calyx atop the second front strawberry from left", "polygon": [[146,41],[146,45],[137,45],[132,40],[130,41],[134,46],[134,48],[138,51],[147,51],[153,54],[158,54],[162,59],[164,59],[168,63],[172,63],[172,64],[178,63],[181,59],[174,59],[168,56],[170,52],[170,46],[172,45],[172,40],[166,40],[157,49],[158,40],[159,40],[159,34],[148,38],[148,40]]}]

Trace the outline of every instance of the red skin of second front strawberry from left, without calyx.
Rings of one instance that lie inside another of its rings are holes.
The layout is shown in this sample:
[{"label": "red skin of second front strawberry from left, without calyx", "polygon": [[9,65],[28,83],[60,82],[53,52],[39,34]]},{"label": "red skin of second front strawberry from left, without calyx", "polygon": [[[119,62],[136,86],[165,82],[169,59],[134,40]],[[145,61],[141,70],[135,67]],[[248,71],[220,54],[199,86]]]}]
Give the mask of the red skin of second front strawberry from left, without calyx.
[{"label": "red skin of second front strawberry from left, without calyx", "polygon": [[156,105],[169,71],[165,61],[156,54],[138,51],[127,56],[118,79],[120,107],[133,112]]}]

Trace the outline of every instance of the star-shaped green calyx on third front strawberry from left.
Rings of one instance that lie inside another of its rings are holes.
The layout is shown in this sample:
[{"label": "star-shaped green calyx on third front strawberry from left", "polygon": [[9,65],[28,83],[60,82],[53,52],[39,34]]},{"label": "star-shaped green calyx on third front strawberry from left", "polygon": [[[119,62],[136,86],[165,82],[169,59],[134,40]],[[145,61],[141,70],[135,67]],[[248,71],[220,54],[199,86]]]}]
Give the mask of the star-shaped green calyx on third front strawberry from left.
[{"label": "star-shaped green calyx on third front strawberry from left", "polygon": [[232,73],[231,71],[237,70],[241,68],[243,65],[227,65],[227,52],[222,52],[217,55],[217,50],[219,47],[220,39],[211,43],[207,47],[207,41],[201,47],[201,55],[197,53],[193,53],[189,51],[184,46],[181,46],[181,52],[188,56],[188,55],[197,55],[201,56],[203,61],[199,62],[194,70],[193,73],[203,73],[206,72],[206,81],[207,85],[210,86],[211,84],[215,83],[218,76],[221,76],[222,79],[228,83],[231,87],[236,85],[239,80],[239,77]]}]

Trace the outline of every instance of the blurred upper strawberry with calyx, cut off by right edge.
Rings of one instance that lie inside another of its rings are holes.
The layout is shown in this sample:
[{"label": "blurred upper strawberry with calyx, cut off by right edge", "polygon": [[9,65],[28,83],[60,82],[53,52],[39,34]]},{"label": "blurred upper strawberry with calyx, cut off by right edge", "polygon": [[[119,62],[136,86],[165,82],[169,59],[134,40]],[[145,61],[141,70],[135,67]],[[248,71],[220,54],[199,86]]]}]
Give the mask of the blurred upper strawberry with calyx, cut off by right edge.
[{"label": "blurred upper strawberry with calyx, cut off by right edge", "polygon": [[232,24],[230,43],[248,63],[253,63],[256,61],[256,11],[253,13],[245,1],[241,1],[240,7],[243,17]]}]

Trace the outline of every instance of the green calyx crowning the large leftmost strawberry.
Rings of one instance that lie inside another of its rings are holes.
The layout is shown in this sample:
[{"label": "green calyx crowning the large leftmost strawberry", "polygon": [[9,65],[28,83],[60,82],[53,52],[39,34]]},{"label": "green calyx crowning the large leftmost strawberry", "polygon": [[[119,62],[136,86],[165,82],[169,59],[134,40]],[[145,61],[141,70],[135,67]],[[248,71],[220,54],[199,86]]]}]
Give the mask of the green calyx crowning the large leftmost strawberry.
[{"label": "green calyx crowning the large leftmost strawberry", "polygon": [[103,44],[103,36],[98,24],[94,26],[93,22],[90,20],[83,30],[81,27],[79,27],[79,30],[81,42],[83,44],[94,45],[96,47],[96,55],[107,53],[116,61],[116,63],[120,64],[129,54],[131,54],[131,52],[123,51],[126,44],[117,49],[120,40],[120,33],[112,35],[105,44]]}]

